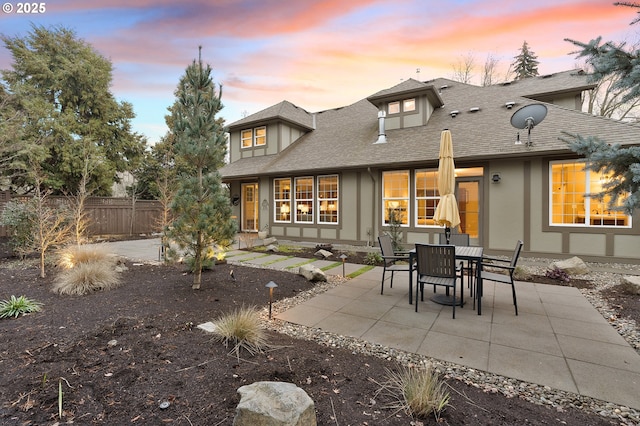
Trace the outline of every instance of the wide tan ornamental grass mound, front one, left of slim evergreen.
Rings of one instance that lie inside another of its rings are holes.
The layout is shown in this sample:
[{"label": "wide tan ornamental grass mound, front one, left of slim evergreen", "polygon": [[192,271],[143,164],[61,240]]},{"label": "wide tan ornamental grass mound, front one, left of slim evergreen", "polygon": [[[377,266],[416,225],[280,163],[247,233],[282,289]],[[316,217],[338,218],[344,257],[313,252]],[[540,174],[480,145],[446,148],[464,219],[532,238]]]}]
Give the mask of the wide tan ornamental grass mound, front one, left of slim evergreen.
[{"label": "wide tan ornamental grass mound, front one, left of slim evergreen", "polygon": [[111,290],[119,285],[120,275],[112,262],[86,262],[60,272],[53,282],[52,291],[81,296],[98,290]]}]

